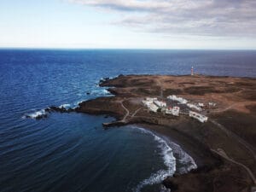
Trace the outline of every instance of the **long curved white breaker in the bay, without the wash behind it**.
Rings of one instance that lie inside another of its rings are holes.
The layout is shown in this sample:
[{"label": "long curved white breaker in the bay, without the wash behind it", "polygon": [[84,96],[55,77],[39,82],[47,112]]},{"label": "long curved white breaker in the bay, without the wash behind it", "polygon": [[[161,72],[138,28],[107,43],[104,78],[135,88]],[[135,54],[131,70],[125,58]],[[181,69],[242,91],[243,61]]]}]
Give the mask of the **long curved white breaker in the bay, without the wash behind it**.
[{"label": "long curved white breaker in the bay, without the wash behind it", "polygon": [[[168,145],[168,143],[161,137],[155,135],[152,131],[145,130],[143,128],[133,126],[133,128],[142,131],[143,133],[152,135],[154,140],[159,144],[158,146],[161,149],[162,158],[164,160],[164,164],[166,165],[166,170],[160,170],[158,172],[153,173],[150,177],[143,180],[141,183],[137,185],[134,192],[139,192],[143,187],[147,185],[161,183],[166,177],[172,176],[176,171],[176,158],[173,156],[172,148]],[[165,189],[162,189],[165,190]]]}]

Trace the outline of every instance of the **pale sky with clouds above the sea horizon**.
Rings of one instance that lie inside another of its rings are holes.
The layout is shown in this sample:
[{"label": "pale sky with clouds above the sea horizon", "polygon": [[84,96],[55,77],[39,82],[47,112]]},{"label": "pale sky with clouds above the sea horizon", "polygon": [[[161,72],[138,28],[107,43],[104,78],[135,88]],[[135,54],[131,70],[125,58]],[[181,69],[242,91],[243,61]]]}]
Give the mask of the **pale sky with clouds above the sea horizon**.
[{"label": "pale sky with clouds above the sea horizon", "polygon": [[1,0],[0,47],[256,49],[256,1]]}]

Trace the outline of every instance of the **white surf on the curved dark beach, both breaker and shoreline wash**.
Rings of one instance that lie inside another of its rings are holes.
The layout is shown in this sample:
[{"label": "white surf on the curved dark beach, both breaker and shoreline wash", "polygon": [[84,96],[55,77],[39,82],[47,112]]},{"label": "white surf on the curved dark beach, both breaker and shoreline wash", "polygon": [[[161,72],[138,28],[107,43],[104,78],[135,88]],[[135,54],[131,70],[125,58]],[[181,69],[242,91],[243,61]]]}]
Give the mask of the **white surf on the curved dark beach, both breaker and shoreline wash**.
[{"label": "white surf on the curved dark beach, both breaker and shoreline wash", "polygon": [[[134,192],[139,192],[143,187],[147,185],[161,183],[166,177],[172,176],[177,171],[177,161],[183,164],[183,168],[179,170],[181,173],[189,172],[191,169],[195,169],[197,166],[195,164],[195,160],[186,154],[183,149],[177,145],[176,143],[171,143],[166,141],[165,139],[158,137],[152,131],[145,130],[143,128],[132,126],[133,128],[142,131],[143,133],[150,134],[154,137],[154,140],[159,143],[159,147],[161,148],[161,154],[164,160],[164,163],[167,167],[166,170],[160,170],[158,172],[153,173],[150,177],[143,180],[141,183],[137,185],[137,187],[133,190]],[[177,156],[177,159],[174,155]],[[160,191],[170,191],[165,187],[162,187]]]}]

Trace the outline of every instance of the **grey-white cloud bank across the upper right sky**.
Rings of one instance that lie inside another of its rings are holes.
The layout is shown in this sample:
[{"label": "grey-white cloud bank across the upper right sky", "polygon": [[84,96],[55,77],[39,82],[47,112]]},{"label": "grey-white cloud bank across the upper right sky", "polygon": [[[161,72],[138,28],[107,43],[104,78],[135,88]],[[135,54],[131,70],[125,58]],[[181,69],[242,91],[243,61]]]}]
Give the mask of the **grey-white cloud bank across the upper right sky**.
[{"label": "grey-white cloud bank across the upper right sky", "polygon": [[[70,0],[125,15],[114,25],[144,32],[255,37],[254,0]],[[125,13],[125,14],[124,14]]]}]

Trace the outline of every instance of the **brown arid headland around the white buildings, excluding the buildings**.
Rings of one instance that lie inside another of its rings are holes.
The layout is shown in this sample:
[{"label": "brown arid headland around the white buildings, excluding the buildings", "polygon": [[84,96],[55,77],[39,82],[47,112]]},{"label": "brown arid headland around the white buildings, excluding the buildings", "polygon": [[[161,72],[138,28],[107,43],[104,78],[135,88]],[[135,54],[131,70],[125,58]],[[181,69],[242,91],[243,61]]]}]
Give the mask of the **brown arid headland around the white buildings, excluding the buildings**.
[{"label": "brown arid headland around the white buildings, excluding the buildings", "polygon": [[[198,169],[167,177],[172,191],[251,191],[256,186],[256,80],[212,76],[120,75],[101,86],[114,96],[81,102],[79,113],[108,114],[106,127],[137,124],[170,137],[190,154]],[[152,113],[143,106],[146,96],[166,99],[177,95],[191,102],[214,102],[204,108],[206,123]]]}]

